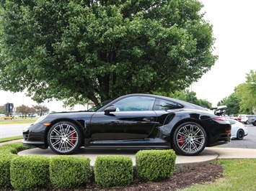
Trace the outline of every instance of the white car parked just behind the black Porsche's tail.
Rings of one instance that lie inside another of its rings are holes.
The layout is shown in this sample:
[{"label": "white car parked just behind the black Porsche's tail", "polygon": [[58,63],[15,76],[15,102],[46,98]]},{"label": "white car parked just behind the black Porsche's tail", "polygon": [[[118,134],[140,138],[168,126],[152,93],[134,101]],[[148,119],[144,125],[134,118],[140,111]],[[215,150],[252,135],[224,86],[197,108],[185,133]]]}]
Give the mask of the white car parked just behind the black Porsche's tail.
[{"label": "white car parked just behind the black Porsche's tail", "polygon": [[231,124],[231,139],[244,139],[244,136],[248,135],[248,128],[246,125],[239,121],[228,119]]}]

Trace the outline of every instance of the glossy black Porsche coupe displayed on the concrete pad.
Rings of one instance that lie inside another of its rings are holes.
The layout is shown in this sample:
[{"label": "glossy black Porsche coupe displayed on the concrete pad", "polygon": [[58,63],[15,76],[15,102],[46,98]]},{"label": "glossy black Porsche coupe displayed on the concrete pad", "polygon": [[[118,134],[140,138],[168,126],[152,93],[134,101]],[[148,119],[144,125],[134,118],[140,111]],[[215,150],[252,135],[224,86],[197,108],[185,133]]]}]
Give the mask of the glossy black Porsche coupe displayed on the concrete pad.
[{"label": "glossy black Porsche coupe displayed on the concrete pad", "polygon": [[206,108],[161,95],[129,94],[89,111],[50,113],[23,130],[22,143],[72,154],[94,148],[168,149],[196,155],[231,139],[231,125]]}]

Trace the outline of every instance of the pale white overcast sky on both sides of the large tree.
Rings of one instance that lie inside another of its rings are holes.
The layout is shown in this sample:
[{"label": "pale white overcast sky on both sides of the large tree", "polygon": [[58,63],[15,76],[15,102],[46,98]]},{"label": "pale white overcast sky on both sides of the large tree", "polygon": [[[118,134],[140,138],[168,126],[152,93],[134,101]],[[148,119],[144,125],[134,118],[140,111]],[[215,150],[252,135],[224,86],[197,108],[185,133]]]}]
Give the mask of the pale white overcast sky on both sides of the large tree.
[{"label": "pale white overcast sky on both sides of the large tree", "polygon": [[[216,38],[214,55],[219,60],[211,70],[192,85],[200,99],[206,99],[213,106],[231,95],[234,88],[245,82],[246,73],[256,70],[256,0],[200,0],[205,7],[205,19],[213,24]],[[10,93],[0,90],[0,106],[14,103],[14,107],[37,105],[25,93]],[[68,111],[60,101],[45,101],[50,111]],[[84,110],[75,106],[74,110]]]}]

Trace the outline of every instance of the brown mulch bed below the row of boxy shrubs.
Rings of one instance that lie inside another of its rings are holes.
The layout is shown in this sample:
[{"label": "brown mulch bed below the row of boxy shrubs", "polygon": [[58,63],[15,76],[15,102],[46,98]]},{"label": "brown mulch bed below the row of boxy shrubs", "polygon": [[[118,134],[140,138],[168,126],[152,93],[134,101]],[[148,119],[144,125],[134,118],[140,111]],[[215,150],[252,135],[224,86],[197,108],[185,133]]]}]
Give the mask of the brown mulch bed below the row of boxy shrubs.
[{"label": "brown mulch bed below the row of boxy shrubs", "polygon": [[[162,191],[162,190],[177,190],[183,189],[185,187],[190,187],[193,184],[203,184],[205,182],[213,182],[220,177],[223,177],[224,169],[221,164],[206,164],[202,167],[195,167],[193,169],[187,169],[183,172],[175,172],[172,177],[168,180],[162,180],[159,182],[143,182],[135,178],[131,185],[125,187],[112,187],[112,188],[101,188],[97,187],[96,182],[88,183],[84,187],[76,187],[77,191],[81,190],[117,190],[117,191]],[[48,187],[42,190],[63,190],[68,189],[58,189],[56,187]]]}]

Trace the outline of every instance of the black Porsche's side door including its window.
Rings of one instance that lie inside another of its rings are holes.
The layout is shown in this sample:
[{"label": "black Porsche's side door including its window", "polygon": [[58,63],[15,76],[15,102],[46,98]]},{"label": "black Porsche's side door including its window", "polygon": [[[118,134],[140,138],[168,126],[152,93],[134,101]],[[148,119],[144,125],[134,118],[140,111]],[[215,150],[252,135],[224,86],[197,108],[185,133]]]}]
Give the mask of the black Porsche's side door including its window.
[{"label": "black Porsche's side door including its window", "polygon": [[88,129],[92,141],[145,139],[156,124],[154,101],[131,96],[113,103],[115,111],[94,113]]}]

